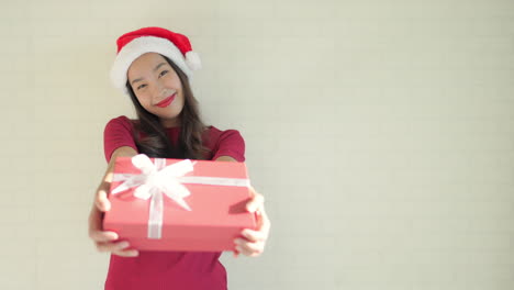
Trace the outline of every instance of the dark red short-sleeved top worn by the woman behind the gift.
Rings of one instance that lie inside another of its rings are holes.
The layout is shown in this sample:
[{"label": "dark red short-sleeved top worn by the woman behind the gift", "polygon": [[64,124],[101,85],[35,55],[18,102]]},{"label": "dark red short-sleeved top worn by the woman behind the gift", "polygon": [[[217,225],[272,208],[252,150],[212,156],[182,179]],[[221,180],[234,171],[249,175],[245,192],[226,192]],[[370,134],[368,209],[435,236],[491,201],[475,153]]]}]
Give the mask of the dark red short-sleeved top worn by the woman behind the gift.
[{"label": "dark red short-sleeved top worn by the woman behind the gift", "polygon": [[[166,129],[172,144],[180,127]],[[124,115],[112,119],[104,131],[105,159],[121,146],[135,150],[132,122]],[[220,131],[209,127],[204,146],[211,150],[210,159],[231,156],[244,161],[245,143],[235,130]],[[226,289],[226,271],[219,261],[221,253],[209,252],[145,252],[137,257],[111,255],[105,290],[165,290],[165,289]]]}]

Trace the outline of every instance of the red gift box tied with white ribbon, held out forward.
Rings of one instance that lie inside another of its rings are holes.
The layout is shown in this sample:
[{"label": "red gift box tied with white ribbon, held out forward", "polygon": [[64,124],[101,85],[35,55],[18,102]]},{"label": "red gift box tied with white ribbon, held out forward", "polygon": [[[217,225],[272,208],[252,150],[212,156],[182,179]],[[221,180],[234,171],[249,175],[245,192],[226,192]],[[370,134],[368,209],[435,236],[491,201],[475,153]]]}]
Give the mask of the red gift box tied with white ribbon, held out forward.
[{"label": "red gift box tied with white ribbon, held out forward", "polygon": [[103,230],[139,250],[234,250],[256,228],[244,163],[119,157]]}]

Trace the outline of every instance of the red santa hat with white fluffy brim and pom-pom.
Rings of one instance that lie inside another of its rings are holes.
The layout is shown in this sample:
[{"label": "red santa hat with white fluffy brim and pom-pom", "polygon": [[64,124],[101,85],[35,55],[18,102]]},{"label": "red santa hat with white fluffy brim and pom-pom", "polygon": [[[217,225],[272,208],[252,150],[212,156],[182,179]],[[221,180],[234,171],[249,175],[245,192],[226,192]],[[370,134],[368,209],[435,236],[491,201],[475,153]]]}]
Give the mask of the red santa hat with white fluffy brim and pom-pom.
[{"label": "red santa hat with white fluffy brim and pom-pom", "polygon": [[116,41],[118,55],[111,68],[114,87],[126,91],[126,72],[132,62],[146,53],[158,53],[176,64],[189,79],[201,68],[200,57],[192,51],[186,35],[161,27],[144,27],[128,32]]}]

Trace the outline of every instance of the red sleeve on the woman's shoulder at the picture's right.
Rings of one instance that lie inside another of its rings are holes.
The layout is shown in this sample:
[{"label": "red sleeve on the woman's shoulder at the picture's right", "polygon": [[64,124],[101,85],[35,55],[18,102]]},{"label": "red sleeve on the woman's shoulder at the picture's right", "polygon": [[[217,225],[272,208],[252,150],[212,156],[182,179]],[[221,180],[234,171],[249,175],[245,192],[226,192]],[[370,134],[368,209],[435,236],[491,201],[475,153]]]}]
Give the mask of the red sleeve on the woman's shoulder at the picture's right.
[{"label": "red sleeve on the woman's shoulder at the picture's right", "polygon": [[245,161],[245,141],[237,130],[220,131],[211,127],[211,137],[214,141],[212,160],[220,156],[231,156],[239,163]]}]

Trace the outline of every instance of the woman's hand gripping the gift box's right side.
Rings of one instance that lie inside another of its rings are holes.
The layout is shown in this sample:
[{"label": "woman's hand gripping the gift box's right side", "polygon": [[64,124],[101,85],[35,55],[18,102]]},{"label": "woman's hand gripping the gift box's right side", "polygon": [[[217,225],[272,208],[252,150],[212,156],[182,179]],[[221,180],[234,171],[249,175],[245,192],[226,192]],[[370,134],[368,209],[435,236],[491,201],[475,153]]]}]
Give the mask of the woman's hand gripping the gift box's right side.
[{"label": "woman's hand gripping the gift box's right side", "polygon": [[252,199],[246,203],[246,209],[252,213],[257,213],[257,228],[255,231],[245,228],[241,232],[243,237],[234,239],[236,245],[234,252],[235,257],[237,257],[238,254],[249,257],[256,257],[262,254],[271,226],[264,208],[264,197],[255,191],[253,187],[250,187],[250,194]]}]

